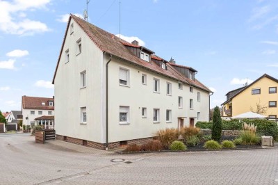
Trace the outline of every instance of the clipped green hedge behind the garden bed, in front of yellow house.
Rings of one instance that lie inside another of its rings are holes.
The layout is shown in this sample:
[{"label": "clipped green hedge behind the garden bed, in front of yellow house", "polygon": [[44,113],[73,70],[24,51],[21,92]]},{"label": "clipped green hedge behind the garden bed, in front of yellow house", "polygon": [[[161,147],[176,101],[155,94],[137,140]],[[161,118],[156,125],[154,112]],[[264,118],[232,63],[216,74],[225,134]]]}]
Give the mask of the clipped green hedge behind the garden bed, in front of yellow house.
[{"label": "clipped green hedge behind the garden bed, in front of yellow house", "polygon": [[[244,119],[242,121],[239,120],[222,120],[222,129],[223,130],[242,130],[243,122],[247,124],[253,123],[256,125],[257,134],[263,136],[272,136],[275,140],[278,140],[278,127],[277,123],[269,120],[251,120]],[[197,122],[196,127],[200,129],[212,129],[212,122]]]}]

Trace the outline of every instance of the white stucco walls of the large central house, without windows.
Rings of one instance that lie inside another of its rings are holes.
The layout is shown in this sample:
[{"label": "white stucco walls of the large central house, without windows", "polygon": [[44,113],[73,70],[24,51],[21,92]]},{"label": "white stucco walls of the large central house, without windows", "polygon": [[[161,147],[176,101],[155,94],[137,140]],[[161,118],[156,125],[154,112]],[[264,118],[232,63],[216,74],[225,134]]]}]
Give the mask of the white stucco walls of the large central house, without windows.
[{"label": "white stucco walls of the large central house, without windows", "polygon": [[[97,143],[106,143],[106,63],[108,54],[95,45],[88,35],[71,19],[65,37],[59,65],[54,79],[56,134]],[[81,39],[81,54],[76,54],[76,41]],[[67,61],[66,51],[70,57]],[[120,68],[129,71],[129,86],[119,83]],[[81,88],[81,74],[86,73],[86,86]],[[147,84],[142,84],[142,74],[147,75]],[[154,93],[154,78],[159,79],[160,92]],[[167,94],[167,83],[172,84],[171,95]],[[183,83],[182,90],[177,79],[146,70],[112,56],[108,65],[108,142],[148,138],[158,129],[179,127],[179,118],[184,126],[189,126],[190,118],[197,122],[208,121],[209,93]],[[200,102],[197,93],[200,93]],[[179,107],[182,97],[182,107]],[[190,109],[190,99],[193,108]],[[120,123],[120,106],[129,107],[129,120]],[[147,108],[146,118],[142,118],[142,108]],[[86,121],[83,122],[83,112]],[[159,109],[159,121],[153,121],[154,108]],[[166,122],[166,110],[171,110],[172,119]]]}]

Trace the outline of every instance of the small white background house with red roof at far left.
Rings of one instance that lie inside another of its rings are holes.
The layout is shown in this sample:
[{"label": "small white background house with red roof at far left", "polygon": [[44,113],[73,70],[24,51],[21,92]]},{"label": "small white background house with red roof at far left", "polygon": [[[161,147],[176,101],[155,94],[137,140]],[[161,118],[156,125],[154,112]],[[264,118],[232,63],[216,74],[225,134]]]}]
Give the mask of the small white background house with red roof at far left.
[{"label": "small white background house with red roof at far left", "polygon": [[54,98],[22,97],[22,124],[54,129]]}]

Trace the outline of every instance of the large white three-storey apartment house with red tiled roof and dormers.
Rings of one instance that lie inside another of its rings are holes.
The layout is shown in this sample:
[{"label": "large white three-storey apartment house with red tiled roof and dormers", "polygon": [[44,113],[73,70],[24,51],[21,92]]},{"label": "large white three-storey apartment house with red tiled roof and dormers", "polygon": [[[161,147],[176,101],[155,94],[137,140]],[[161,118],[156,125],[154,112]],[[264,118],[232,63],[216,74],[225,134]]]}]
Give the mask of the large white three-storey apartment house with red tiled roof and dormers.
[{"label": "large white three-storey apartment house with red tiled roof and dormers", "polygon": [[70,15],[52,82],[57,139],[104,150],[208,121],[196,73]]}]

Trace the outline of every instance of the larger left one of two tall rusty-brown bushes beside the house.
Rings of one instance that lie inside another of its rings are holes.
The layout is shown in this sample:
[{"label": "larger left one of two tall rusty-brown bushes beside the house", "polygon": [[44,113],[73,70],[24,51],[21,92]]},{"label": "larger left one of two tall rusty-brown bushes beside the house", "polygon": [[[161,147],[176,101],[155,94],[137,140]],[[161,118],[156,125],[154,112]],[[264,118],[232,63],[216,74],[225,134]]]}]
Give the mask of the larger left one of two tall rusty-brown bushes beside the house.
[{"label": "larger left one of two tall rusty-brown bushes beside the house", "polygon": [[161,142],[162,146],[165,149],[168,149],[171,143],[179,138],[179,130],[174,128],[161,129],[156,132],[156,136]]}]

